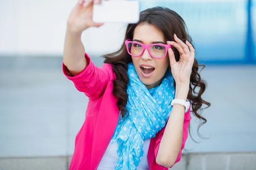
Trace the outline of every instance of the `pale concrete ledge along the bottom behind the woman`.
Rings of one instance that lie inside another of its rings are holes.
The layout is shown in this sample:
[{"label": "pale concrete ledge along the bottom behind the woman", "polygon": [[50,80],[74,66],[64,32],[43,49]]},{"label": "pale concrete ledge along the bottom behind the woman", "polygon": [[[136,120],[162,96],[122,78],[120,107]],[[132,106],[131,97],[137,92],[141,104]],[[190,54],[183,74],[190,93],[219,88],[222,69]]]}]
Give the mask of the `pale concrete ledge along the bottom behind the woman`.
[{"label": "pale concrete ledge along the bottom behind the woman", "polygon": [[[68,170],[71,156],[0,158],[0,170]],[[171,170],[256,170],[256,152],[184,154]]]}]

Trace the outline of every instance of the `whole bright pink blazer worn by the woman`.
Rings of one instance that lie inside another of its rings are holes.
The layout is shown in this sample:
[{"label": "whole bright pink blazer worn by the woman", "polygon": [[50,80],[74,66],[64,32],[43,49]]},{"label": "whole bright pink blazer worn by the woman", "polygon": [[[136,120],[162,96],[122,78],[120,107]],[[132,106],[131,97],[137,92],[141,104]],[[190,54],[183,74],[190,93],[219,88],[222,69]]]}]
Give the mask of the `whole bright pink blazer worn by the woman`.
[{"label": "whole bright pink blazer worn by the woman", "polygon": [[[117,97],[113,96],[113,83],[116,78],[112,65],[103,64],[96,67],[85,54],[89,65],[80,74],[70,77],[67,67],[63,64],[64,74],[73,81],[77,90],[89,98],[84,124],[75,140],[75,150],[70,163],[70,170],[96,170],[108,147],[116,128],[119,109],[116,105]],[[183,141],[180,153],[175,163],[180,161],[181,150],[188,137],[190,110],[185,113],[183,127]],[[156,163],[156,156],[165,127],[151,139],[148,149],[149,170],[168,170]]]}]

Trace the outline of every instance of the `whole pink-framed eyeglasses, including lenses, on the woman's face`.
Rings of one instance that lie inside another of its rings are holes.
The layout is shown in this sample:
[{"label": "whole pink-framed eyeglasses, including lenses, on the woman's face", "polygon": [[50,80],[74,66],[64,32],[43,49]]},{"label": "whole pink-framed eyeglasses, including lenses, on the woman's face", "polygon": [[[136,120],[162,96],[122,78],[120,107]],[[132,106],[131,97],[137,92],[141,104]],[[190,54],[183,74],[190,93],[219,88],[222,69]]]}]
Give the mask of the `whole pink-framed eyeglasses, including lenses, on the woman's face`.
[{"label": "whole pink-framed eyeglasses, including lenses, on the woman's face", "polygon": [[166,57],[168,49],[172,47],[172,45],[167,45],[167,44],[144,45],[140,42],[130,41],[130,40],[131,39],[126,40],[125,45],[128,53],[134,57],[141,56],[145,51],[145,49],[147,49],[151,57],[154,57],[157,59],[164,58]]}]

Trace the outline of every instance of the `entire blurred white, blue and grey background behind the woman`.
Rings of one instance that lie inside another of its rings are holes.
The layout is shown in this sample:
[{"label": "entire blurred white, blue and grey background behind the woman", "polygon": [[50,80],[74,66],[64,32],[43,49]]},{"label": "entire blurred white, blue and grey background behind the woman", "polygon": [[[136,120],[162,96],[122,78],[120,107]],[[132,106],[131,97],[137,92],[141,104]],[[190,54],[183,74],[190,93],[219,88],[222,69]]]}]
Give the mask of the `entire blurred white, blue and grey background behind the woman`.
[{"label": "entire blurred white, blue and grey background behind the woman", "polygon": [[[0,0],[0,170],[67,170],[88,99],[62,73],[67,17],[77,0]],[[185,20],[206,68],[212,106],[192,116],[174,170],[256,170],[256,0],[140,0]],[[117,50],[125,24],[84,31],[97,65]],[[108,40],[104,41],[104,40]],[[111,43],[109,43],[111,41]],[[102,48],[98,48],[101,43]]]}]

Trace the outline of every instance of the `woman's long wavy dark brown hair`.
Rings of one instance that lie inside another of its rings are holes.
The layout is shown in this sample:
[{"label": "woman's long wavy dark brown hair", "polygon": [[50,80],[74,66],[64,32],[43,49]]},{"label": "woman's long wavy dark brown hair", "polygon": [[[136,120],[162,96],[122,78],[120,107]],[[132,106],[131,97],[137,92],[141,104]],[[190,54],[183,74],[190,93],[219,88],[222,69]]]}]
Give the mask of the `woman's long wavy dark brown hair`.
[{"label": "woman's long wavy dark brown hair", "polygon": [[[125,40],[133,39],[134,29],[138,25],[142,24],[151,24],[161,30],[166,41],[175,41],[173,34],[176,34],[177,37],[179,37],[183,42],[188,40],[191,44],[193,44],[192,39],[187,32],[186,23],[184,20],[182,17],[180,17],[179,14],[170,10],[169,8],[148,8],[140,13],[140,20],[138,23],[128,24],[125,32],[125,39],[121,48],[116,52],[105,54],[103,56],[105,58],[105,63],[113,65],[113,71],[116,74],[116,79],[113,81],[113,94],[119,98],[117,105],[121,111],[122,117],[127,116],[125,115],[125,113],[127,113],[125,106],[128,99],[126,90],[129,81],[127,71],[128,63],[132,62],[131,56],[128,54],[125,46]],[[174,47],[172,47],[172,50],[174,51],[176,61],[179,61],[179,51],[177,51],[177,49]],[[205,67],[204,65],[198,65],[198,61],[195,59],[192,67],[192,74],[190,76],[189,94],[187,96],[192,104],[193,114],[202,120],[199,127],[207,122],[207,120],[202,117],[200,113],[200,111],[203,109],[202,105],[207,105],[206,108],[211,105],[201,97],[206,89],[206,82],[201,79],[201,76],[198,72],[200,66],[202,69]],[[171,67],[169,67],[169,69],[171,69]]]}]

